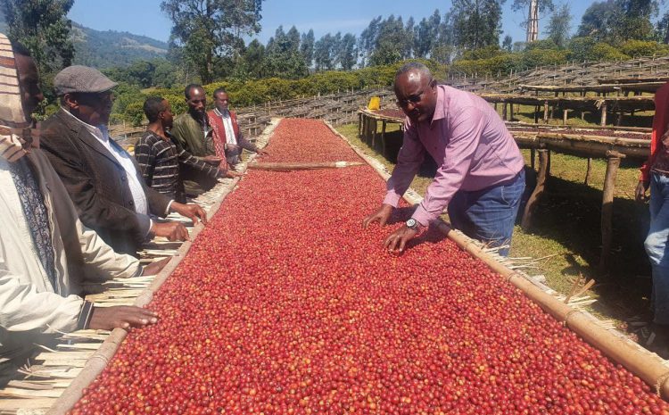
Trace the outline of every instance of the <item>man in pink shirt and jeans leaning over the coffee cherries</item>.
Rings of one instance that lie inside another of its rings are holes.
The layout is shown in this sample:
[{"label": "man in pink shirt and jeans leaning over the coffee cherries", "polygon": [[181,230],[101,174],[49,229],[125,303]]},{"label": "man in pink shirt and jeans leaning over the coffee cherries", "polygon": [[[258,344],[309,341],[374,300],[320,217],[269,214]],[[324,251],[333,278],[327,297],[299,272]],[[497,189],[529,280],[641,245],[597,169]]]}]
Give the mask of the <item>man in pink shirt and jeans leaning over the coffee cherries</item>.
[{"label": "man in pink shirt and jeans leaning over the coffee cherries", "polygon": [[[395,76],[397,104],[407,115],[404,143],[384,203],[363,221],[390,218],[425,158],[438,170],[411,219],[384,240],[403,251],[448,207],[453,228],[491,246],[508,245],[524,192],[524,160],[500,115],[481,97],[437,85],[429,69],[409,62]],[[508,247],[500,254],[508,255]]]}]

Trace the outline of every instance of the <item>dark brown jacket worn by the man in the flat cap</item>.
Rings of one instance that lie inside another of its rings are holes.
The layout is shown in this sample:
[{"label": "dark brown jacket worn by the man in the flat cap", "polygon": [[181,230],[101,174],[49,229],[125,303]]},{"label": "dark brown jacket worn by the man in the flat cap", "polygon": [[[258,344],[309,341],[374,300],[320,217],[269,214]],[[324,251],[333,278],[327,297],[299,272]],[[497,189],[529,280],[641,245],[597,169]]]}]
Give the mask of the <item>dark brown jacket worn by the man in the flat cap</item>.
[{"label": "dark brown jacket worn by the man in the flat cap", "polygon": [[[114,251],[136,255],[151,221],[135,212],[126,170],[84,125],[64,111],[42,124],[40,147],[62,178],[84,225],[95,229]],[[135,166],[139,177],[136,162]],[[139,182],[145,188],[149,212],[165,216],[169,199],[146,187],[141,177]]]}]

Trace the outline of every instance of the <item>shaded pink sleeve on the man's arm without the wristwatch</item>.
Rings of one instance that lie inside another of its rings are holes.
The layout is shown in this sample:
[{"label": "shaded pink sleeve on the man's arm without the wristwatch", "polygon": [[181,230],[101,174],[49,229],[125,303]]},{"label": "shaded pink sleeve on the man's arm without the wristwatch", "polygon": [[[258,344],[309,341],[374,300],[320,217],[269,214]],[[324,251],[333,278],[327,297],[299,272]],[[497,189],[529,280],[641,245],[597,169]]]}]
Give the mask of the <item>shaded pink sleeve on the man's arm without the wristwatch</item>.
[{"label": "shaded pink sleeve on the man's arm without the wristwatch", "polygon": [[418,139],[416,128],[405,123],[400,154],[397,154],[397,165],[392,170],[391,178],[388,179],[386,186],[388,192],[384,198],[385,204],[397,206],[424,159],[425,148]]}]

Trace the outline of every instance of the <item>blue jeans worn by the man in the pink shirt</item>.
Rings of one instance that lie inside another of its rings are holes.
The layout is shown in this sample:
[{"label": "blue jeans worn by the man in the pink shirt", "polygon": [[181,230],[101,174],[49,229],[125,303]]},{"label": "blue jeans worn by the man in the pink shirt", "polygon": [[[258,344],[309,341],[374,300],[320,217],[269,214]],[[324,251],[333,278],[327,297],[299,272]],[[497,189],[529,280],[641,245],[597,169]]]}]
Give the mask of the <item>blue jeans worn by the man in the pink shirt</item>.
[{"label": "blue jeans worn by the man in the pink shirt", "polygon": [[[510,245],[520,199],[525,188],[525,172],[500,185],[467,192],[458,191],[449,203],[453,228],[490,246]],[[508,248],[500,249],[507,256]]]}]

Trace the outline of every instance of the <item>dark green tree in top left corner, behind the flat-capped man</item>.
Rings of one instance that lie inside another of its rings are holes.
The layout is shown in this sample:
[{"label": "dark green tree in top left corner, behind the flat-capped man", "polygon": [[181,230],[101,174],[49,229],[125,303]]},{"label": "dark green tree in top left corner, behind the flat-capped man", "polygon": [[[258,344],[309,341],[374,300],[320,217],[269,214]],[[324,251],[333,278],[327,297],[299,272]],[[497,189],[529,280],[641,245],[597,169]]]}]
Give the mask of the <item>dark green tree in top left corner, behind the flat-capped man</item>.
[{"label": "dark green tree in top left corner, behind the flat-capped man", "polygon": [[72,22],[67,18],[72,4],[74,0],[0,0],[0,12],[9,28],[7,37],[29,49],[47,95],[53,89],[54,74],[70,66],[74,58]]}]

